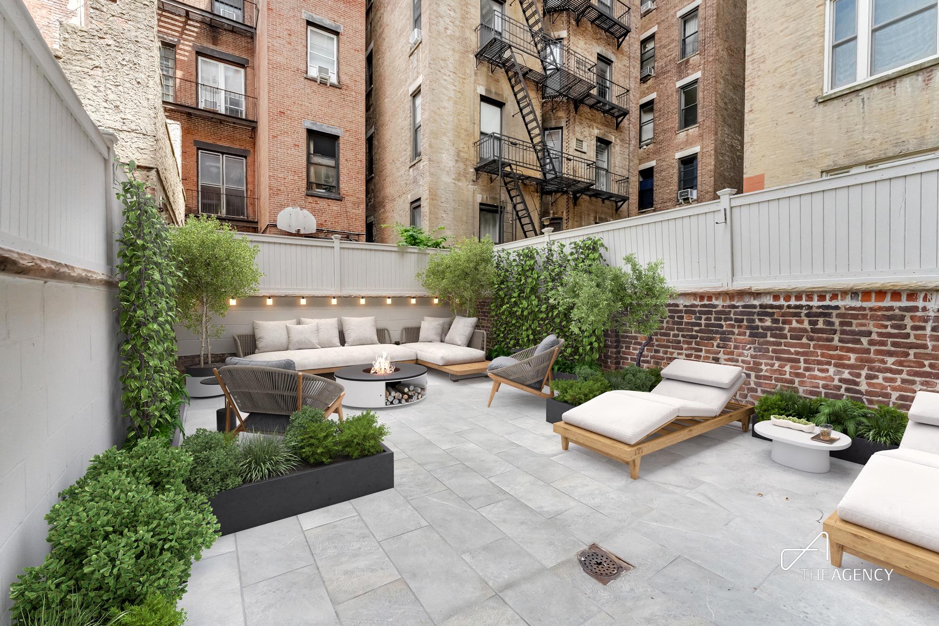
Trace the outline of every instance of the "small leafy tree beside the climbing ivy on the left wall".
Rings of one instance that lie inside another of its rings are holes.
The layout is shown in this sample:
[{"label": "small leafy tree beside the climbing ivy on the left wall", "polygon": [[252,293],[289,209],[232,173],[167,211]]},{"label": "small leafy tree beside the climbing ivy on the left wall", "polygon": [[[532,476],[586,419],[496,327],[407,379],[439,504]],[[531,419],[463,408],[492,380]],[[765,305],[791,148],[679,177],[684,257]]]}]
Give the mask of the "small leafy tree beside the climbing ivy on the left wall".
[{"label": "small leafy tree beside the climbing ivy on the left wall", "polygon": [[258,247],[214,217],[197,216],[172,232],[173,252],[182,271],[177,308],[183,326],[199,335],[199,366],[212,362],[212,339],[223,327],[216,315],[228,312],[228,298],[247,298],[257,290],[261,271],[254,265]]}]

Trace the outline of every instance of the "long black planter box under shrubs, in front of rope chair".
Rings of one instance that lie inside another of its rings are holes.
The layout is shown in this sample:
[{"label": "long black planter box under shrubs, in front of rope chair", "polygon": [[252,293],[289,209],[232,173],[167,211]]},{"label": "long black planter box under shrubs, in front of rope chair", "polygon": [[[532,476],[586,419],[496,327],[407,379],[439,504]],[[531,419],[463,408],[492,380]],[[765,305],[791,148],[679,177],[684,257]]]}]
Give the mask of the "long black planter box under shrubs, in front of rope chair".
[{"label": "long black planter box under shrubs, in front of rope chair", "polygon": [[384,451],[328,466],[303,466],[299,471],[248,482],[209,500],[222,534],[276,522],[394,486],[394,452]]}]

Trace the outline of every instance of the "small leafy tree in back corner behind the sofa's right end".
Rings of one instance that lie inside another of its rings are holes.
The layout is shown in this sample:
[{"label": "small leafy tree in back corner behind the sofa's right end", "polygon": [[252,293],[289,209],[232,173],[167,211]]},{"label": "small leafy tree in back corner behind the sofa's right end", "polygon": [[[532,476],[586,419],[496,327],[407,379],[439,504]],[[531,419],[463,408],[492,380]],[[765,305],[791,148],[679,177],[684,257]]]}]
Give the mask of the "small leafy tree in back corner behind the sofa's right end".
[{"label": "small leafy tree in back corner behind the sofa's right end", "polygon": [[417,278],[431,294],[445,299],[457,314],[475,315],[479,301],[492,292],[493,245],[483,239],[465,237],[450,252],[437,252]]}]

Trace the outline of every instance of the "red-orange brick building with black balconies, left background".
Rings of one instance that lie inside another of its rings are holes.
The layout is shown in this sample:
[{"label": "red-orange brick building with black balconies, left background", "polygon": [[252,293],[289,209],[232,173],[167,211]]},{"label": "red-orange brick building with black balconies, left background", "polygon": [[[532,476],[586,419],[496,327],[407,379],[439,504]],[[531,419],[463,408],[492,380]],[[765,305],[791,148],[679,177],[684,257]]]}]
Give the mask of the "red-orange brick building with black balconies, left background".
[{"label": "red-orange brick building with black balconies, left background", "polygon": [[365,0],[157,0],[166,116],[187,214],[284,234],[364,235]]}]

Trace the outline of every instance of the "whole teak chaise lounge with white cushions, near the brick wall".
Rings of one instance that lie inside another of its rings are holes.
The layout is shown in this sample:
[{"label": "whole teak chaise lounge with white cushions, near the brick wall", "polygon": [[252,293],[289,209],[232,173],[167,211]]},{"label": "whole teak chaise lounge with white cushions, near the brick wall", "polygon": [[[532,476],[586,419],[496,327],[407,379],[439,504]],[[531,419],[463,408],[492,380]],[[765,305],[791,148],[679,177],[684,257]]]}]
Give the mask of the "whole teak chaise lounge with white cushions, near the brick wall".
[{"label": "whole teak chaise lounge with white cushions, near the brick wall", "polygon": [[573,441],[625,463],[639,478],[642,456],[739,421],[747,431],[753,406],[732,403],[747,380],[743,369],[678,359],[649,392],[607,391],[575,406],[554,424],[562,450]]}]

